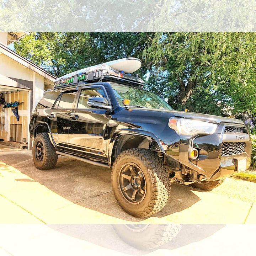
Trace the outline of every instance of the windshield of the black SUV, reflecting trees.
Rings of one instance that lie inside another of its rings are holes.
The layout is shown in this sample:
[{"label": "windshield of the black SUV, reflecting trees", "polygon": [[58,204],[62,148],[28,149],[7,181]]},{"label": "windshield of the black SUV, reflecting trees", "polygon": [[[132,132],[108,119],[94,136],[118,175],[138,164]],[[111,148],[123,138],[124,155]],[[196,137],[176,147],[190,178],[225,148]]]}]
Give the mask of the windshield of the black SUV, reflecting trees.
[{"label": "windshield of the black SUV, reflecting trees", "polygon": [[120,106],[123,106],[122,100],[130,100],[130,106],[174,110],[166,101],[153,92],[127,85],[112,84],[111,86]]}]

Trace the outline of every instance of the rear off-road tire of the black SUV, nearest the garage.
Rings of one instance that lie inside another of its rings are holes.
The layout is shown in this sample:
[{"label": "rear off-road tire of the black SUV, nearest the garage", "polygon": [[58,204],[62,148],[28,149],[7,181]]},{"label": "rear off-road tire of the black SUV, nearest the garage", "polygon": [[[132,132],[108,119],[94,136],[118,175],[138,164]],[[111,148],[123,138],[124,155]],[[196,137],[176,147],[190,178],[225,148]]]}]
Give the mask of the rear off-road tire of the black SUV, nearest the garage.
[{"label": "rear off-road tire of the black SUV, nearest the garage", "polygon": [[[39,162],[36,158],[36,145],[38,141],[42,142],[43,149],[44,149],[44,156],[41,162]],[[33,149],[32,149],[33,161],[37,169],[39,170],[52,169],[56,165],[58,160],[58,154],[56,154],[55,152],[56,150],[52,145],[52,143],[50,142],[48,133],[38,133],[36,135],[36,138],[34,139]]]}]

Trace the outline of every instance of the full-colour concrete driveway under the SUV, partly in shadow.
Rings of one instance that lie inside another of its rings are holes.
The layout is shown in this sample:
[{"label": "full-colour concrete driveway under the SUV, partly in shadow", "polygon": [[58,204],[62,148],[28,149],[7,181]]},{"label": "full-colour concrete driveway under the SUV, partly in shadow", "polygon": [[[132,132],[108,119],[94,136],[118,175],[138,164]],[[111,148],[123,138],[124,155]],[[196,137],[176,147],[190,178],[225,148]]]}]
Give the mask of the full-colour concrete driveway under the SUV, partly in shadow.
[{"label": "full-colour concrete driveway under the SUV, partly in shadow", "polygon": [[0,147],[0,223],[256,223],[256,183],[227,178],[210,192],[174,183],[165,208],[138,219],[116,203],[110,169],[59,156],[40,171],[31,154]]}]

